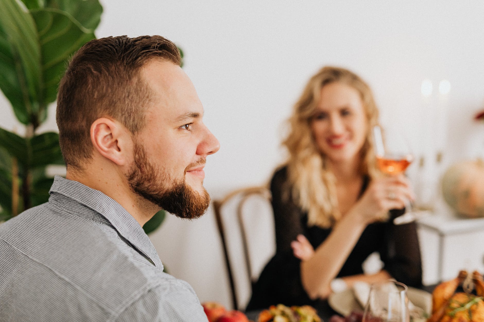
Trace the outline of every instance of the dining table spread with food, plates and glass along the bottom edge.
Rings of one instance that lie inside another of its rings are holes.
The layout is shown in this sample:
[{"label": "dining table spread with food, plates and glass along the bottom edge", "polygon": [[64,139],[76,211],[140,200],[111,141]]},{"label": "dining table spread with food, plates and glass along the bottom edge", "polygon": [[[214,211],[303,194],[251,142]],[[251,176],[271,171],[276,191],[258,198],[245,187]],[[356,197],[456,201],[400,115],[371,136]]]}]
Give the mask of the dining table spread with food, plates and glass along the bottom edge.
[{"label": "dining table spread with food, plates and glass along the bottom edge", "polygon": [[242,312],[202,305],[209,322],[479,322],[484,321],[484,281],[479,272],[462,270],[453,279],[420,288],[395,280],[357,282],[311,306],[274,304]]}]

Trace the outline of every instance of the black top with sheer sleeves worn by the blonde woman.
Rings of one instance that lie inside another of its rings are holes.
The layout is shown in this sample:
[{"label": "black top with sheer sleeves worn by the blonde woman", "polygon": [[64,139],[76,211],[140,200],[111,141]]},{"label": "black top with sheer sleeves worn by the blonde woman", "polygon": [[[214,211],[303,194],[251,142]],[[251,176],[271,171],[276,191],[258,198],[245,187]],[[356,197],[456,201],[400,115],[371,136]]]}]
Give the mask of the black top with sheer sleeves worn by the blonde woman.
[{"label": "black top with sheer sleeves worn by the blonde woman", "polygon": [[[368,186],[365,177],[360,193]],[[290,198],[287,167],[279,169],[271,181],[272,208],[276,237],[276,253],[265,266],[253,287],[247,310],[270,305],[314,305],[302,287],[301,260],[293,255],[290,243],[303,234],[316,249],[331,233],[332,228],[309,227],[307,212]],[[289,196],[286,201],[283,196]],[[397,210],[402,212],[402,210]],[[338,277],[362,274],[363,261],[378,251],[385,269],[393,278],[408,286],[422,285],[422,263],[415,222],[393,225],[390,222],[369,224],[344,263]]]}]

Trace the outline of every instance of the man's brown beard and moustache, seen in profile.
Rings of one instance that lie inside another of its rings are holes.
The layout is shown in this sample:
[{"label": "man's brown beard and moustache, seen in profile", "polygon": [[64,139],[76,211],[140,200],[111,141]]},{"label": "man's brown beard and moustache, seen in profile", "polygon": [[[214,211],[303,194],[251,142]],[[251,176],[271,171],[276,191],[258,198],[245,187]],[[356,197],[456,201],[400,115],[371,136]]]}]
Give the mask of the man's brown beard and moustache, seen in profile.
[{"label": "man's brown beard and moustache, seen in profile", "polygon": [[183,179],[177,181],[155,168],[148,161],[144,147],[137,142],[135,142],[134,153],[135,161],[127,176],[131,190],[183,219],[196,219],[205,213],[210,204],[207,190],[203,189],[201,194],[198,193],[186,183],[184,177],[187,169],[205,163],[204,160],[188,165]]}]

